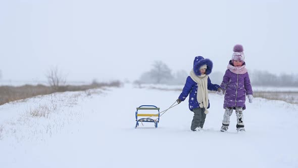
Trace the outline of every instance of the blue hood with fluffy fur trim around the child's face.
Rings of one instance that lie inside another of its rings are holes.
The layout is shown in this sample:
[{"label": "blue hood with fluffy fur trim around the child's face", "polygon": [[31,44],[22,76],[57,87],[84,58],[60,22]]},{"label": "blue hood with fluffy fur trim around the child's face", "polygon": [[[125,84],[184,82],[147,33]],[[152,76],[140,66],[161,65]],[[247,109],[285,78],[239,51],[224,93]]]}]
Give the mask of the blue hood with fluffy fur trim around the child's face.
[{"label": "blue hood with fluffy fur trim around the child's face", "polygon": [[212,72],[213,62],[210,59],[205,59],[202,56],[196,56],[193,60],[193,71],[196,75],[202,75],[200,72],[200,67],[202,65],[207,65],[206,74],[209,75]]}]

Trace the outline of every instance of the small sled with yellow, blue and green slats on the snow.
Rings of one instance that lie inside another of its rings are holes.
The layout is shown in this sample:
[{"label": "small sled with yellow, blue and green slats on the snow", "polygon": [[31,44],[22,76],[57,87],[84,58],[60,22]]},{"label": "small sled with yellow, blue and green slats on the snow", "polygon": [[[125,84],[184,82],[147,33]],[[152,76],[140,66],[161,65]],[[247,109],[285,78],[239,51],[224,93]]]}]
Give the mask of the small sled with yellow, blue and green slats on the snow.
[{"label": "small sled with yellow, blue and green slats on the snow", "polygon": [[[143,110],[151,110],[158,113],[143,113]],[[136,108],[135,112],[135,128],[138,127],[139,122],[154,122],[155,128],[158,126],[159,118],[160,118],[160,108],[154,105],[141,105]],[[138,117],[146,117],[146,118],[139,118]]]}]

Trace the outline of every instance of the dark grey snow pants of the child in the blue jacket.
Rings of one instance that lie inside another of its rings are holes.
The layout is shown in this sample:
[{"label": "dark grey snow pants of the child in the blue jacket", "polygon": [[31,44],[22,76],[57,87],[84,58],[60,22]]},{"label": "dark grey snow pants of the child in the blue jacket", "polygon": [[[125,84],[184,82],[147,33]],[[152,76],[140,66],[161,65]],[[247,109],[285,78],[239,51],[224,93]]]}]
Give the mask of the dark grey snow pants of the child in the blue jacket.
[{"label": "dark grey snow pants of the child in the blue jacket", "polygon": [[191,121],[190,129],[194,130],[197,127],[203,128],[205,123],[205,118],[206,118],[206,114],[204,113],[205,108],[195,108],[195,109],[192,109],[192,111],[193,111],[193,119]]}]

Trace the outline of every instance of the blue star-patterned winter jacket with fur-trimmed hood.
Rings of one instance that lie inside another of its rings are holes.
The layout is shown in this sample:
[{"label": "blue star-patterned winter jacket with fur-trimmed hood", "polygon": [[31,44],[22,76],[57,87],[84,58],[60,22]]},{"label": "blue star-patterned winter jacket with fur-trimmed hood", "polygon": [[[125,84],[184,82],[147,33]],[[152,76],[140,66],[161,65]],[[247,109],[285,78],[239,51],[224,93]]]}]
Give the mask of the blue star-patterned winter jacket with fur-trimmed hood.
[{"label": "blue star-patterned winter jacket with fur-trimmed hood", "polygon": [[[201,72],[200,72],[199,68],[205,64],[207,65],[206,74],[209,75],[212,72],[212,67],[213,67],[212,61],[209,59],[204,59],[202,56],[195,57],[195,59],[193,61],[194,73],[196,75],[200,76]],[[208,77],[208,87],[207,88],[210,91],[217,91],[217,89],[220,88],[220,86],[211,83],[211,79],[210,79],[210,77]],[[186,82],[183,87],[182,93],[179,96],[179,99],[184,101],[189,94],[188,107],[189,107],[190,111],[192,111],[192,109],[194,109],[194,108],[200,107],[199,106],[200,103],[198,103],[196,100],[196,93],[197,93],[197,83],[195,81],[193,81],[190,76],[188,76],[186,78]],[[210,108],[210,101],[209,101],[208,108]]]}]

